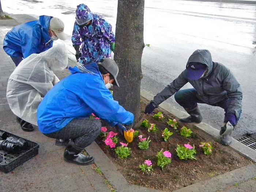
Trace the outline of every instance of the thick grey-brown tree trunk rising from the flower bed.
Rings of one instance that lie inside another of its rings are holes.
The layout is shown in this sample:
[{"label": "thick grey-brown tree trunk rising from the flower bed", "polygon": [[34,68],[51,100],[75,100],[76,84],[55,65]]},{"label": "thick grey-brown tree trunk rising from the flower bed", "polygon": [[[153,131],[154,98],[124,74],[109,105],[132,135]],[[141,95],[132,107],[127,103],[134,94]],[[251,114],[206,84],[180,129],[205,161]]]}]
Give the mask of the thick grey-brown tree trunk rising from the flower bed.
[{"label": "thick grey-brown tree trunk rising from the flower bed", "polygon": [[134,114],[135,122],[140,117],[143,26],[144,0],[118,0],[114,60],[119,67],[120,88],[115,87],[114,99]]}]

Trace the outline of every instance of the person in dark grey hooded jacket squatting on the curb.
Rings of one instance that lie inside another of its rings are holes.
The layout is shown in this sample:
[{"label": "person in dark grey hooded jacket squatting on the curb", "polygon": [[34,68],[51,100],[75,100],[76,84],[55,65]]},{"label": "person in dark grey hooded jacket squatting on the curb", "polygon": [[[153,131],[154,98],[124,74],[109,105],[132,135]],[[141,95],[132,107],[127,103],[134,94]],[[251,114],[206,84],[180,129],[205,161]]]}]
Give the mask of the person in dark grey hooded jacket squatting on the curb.
[{"label": "person in dark grey hooded jacket squatting on the curb", "polygon": [[[186,83],[194,88],[180,90]],[[206,49],[196,50],[189,57],[186,69],[167,85],[145,109],[150,114],[160,103],[173,94],[190,116],[181,118],[185,123],[200,123],[202,116],[197,103],[219,106],[225,110],[224,126],[221,128],[221,142],[230,145],[231,132],[240,118],[242,91],[240,84],[228,68],[212,62],[211,53]]]}]

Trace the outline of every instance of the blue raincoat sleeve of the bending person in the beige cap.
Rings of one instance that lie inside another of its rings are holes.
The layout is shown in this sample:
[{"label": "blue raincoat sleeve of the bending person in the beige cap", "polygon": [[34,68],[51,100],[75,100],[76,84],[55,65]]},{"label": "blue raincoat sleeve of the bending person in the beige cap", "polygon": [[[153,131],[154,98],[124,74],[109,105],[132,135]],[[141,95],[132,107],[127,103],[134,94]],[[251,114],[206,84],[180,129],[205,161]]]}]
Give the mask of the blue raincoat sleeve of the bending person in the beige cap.
[{"label": "blue raincoat sleeve of the bending person in the beige cap", "polygon": [[33,53],[39,52],[38,45],[41,42],[41,30],[39,28],[35,28],[34,30],[26,31],[25,34],[22,35],[21,38],[21,49],[23,58],[27,58]]}]

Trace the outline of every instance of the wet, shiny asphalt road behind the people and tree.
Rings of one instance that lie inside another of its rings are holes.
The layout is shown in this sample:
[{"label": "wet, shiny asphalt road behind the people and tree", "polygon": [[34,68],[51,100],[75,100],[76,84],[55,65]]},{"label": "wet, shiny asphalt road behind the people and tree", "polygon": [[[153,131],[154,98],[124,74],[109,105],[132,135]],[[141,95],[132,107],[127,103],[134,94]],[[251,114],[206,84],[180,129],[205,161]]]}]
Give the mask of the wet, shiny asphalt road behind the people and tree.
[{"label": "wet, shiny asphalt road behind the people and tree", "polygon": [[[96,2],[96,3],[95,3]],[[2,0],[13,14],[52,15],[65,22],[72,34],[75,8],[83,0]],[[117,0],[86,1],[115,28]],[[71,46],[70,41],[66,41]],[[196,49],[208,49],[212,60],[226,65],[242,86],[242,115],[233,136],[256,133],[256,5],[199,1],[145,0],[142,88],[157,94],[184,69]],[[187,84],[184,88],[190,88]],[[184,89],[183,88],[183,89]],[[171,97],[167,102],[183,110]],[[222,126],[224,110],[199,104],[203,122]]]}]

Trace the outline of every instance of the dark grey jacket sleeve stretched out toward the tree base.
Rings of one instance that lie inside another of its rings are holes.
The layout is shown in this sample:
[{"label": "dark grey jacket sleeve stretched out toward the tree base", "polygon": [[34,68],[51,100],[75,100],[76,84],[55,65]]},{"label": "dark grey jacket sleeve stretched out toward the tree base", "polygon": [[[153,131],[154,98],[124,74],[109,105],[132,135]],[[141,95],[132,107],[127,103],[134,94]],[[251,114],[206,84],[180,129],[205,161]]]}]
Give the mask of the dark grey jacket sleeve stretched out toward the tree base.
[{"label": "dark grey jacket sleeve stretched out toward the tree base", "polygon": [[174,93],[181,89],[186,83],[188,83],[187,78],[185,78],[185,71],[183,71],[176,79],[173,80],[169,85],[165,87],[160,93],[158,93],[153,102],[155,107],[158,107],[160,103],[171,97]]}]

